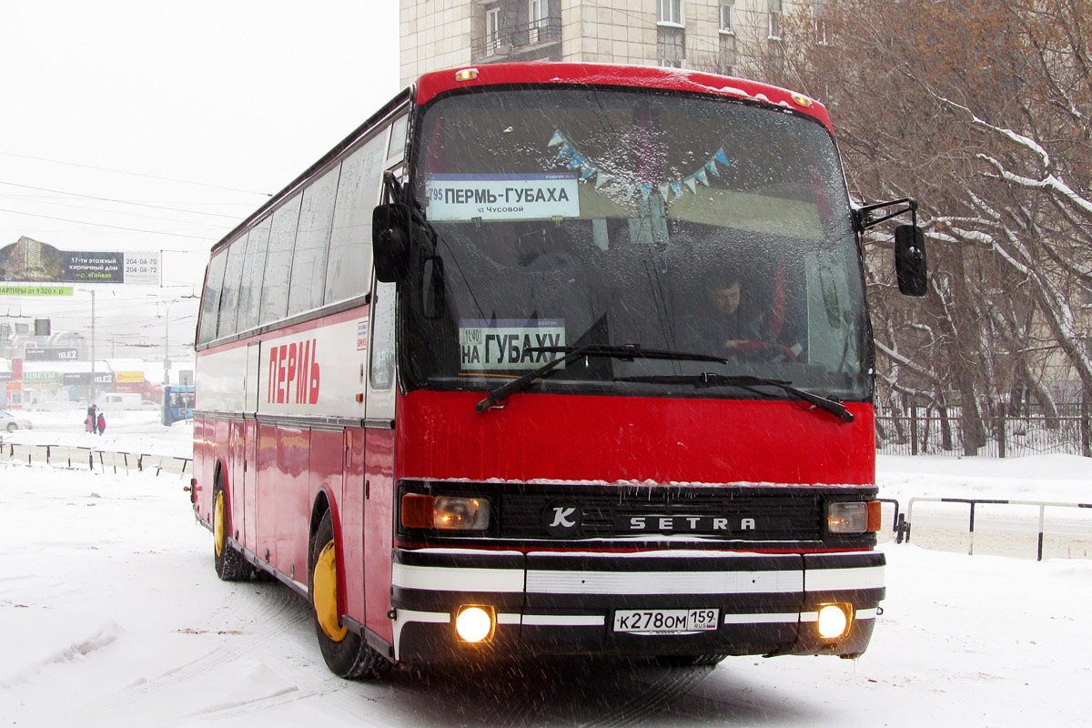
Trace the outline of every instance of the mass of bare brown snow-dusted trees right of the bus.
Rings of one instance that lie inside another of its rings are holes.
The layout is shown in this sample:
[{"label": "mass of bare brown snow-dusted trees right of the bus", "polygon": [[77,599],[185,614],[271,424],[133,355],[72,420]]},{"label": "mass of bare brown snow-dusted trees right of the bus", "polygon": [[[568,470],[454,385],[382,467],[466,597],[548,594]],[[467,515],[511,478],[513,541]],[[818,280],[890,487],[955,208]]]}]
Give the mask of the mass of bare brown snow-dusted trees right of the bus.
[{"label": "mass of bare brown snow-dusted trees right of the bus", "polygon": [[831,108],[857,199],[925,205],[928,297],[868,258],[881,389],[957,393],[965,452],[1024,391],[1055,414],[1052,353],[1092,391],[1090,3],[829,0],[782,37],[761,72]]}]

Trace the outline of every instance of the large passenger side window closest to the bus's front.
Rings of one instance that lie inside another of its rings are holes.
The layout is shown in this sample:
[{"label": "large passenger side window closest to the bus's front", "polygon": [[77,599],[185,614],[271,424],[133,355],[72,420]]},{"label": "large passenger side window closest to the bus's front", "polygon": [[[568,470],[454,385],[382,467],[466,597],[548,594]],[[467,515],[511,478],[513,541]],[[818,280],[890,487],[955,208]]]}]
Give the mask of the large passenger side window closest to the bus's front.
[{"label": "large passenger side window closest to the bus's front", "polygon": [[327,265],[327,302],[368,290],[371,270],[371,211],[379,195],[387,134],[380,132],[342,163],[334,227]]}]

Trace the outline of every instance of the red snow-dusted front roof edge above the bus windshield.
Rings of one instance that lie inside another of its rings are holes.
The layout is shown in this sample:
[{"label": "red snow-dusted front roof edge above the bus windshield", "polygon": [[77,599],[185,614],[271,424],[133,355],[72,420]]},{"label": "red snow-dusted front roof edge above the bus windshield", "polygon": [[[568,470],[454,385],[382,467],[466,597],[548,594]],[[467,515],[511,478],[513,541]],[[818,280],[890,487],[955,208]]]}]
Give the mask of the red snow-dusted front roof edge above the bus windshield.
[{"label": "red snow-dusted front roof edge above the bus windshield", "polygon": [[746,79],[658,65],[551,62],[484,63],[426,73],[417,82],[415,100],[417,104],[425,104],[444,92],[473,86],[551,83],[640,86],[748,98],[812,116],[833,133],[827,107],[803,94]]}]

